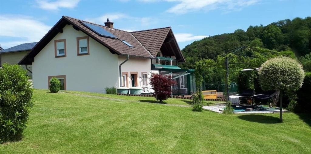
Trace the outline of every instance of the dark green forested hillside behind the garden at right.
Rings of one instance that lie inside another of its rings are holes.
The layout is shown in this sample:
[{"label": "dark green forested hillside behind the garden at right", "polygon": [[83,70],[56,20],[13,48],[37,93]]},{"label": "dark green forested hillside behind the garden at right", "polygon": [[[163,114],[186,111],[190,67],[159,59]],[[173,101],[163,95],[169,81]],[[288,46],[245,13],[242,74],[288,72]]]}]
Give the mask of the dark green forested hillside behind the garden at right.
[{"label": "dark green forested hillside behind the garden at right", "polygon": [[[246,31],[237,29],[194,41],[183,49],[186,63],[183,68],[193,68],[200,59],[215,59],[217,55],[240,46],[266,48],[297,58],[311,51],[311,17],[285,19],[267,26],[249,26]],[[291,55],[294,57],[294,55]],[[307,55],[308,56],[308,55]]]}]

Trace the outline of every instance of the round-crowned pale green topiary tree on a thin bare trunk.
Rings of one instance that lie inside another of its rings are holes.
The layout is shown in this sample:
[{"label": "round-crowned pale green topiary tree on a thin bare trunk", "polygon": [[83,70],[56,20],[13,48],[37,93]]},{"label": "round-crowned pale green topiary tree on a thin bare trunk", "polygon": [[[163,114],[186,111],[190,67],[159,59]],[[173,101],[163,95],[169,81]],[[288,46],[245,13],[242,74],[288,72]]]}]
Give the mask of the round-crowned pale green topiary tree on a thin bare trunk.
[{"label": "round-crowned pale green topiary tree on a thin bare trunk", "polygon": [[280,91],[280,120],[282,121],[282,94],[299,90],[304,80],[304,70],[294,59],[277,57],[261,65],[259,84],[263,90]]}]

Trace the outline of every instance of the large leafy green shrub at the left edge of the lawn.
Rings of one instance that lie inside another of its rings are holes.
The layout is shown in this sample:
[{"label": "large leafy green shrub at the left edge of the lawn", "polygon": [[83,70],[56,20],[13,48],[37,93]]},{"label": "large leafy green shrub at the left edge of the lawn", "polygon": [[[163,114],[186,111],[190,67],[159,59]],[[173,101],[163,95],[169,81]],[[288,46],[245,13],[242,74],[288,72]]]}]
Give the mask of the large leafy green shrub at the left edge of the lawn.
[{"label": "large leafy green shrub at the left edge of the lawn", "polygon": [[19,140],[33,105],[33,88],[19,65],[0,68],[0,143]]}]

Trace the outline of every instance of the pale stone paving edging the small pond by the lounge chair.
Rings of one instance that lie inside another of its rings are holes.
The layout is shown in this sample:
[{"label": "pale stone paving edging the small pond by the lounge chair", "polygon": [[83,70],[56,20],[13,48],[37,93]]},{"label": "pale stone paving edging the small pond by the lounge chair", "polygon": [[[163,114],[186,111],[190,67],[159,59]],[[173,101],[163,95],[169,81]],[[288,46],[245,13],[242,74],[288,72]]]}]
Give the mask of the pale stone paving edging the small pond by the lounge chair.
[{"label": "pale stone paving edging the small pond by the lounge chair", "polygon": [[[215,106],[203,106],[204,110],[210,110],[217,113],[222,113],[225,105],[215,105]],[[282,112],[288,112],[287,110],[282,110]],[[234,114],[257,114],[257,113],[280,113],[279,109],[275,110],[253,110],[253,111],[233,111]]]}]

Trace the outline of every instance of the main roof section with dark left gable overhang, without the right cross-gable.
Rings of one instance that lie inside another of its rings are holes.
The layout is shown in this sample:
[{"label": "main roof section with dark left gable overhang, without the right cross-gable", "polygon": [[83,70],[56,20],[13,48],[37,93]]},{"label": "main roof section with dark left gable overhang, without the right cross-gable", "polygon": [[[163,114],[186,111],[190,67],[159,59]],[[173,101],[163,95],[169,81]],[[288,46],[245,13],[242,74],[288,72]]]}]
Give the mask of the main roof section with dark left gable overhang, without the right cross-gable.
[{"label": "main roof section with dark left gable overhang, without the right cross-gable", "polygon": [[[94,23],[95,26],[100,26],[101,28],[105,29],[109,33],[118,37],[118,39],[108,38],[104,36],[100,36],[96,34],[94,31],[89,29],[87,26],[83,24],[83,22],[78,19],[74,19],[68,16],[63,16],[49,32],[39,41],[39,43],[32,49],[32,51],[27,54],[20,62],[20,64],[31,64],[34,61],[34,57],[44,48],[44,46],[51,41],[51,39],[57,35],[58,33],[63,33],[63,27],[66,25],[72,25],[75,30],[82,31],[86,35],[90,36],[98,43],[104,45],[109,49],[109,51],[113,54],[119,55],[131,55],[136,57],[143,57],[143,58],[153,58],[153,56],[146,50],[138,40],[134,36],[132,36],[129,32],[117,29],[110,29],[109,27],[97,25]],[[124,44],[121,40],[125,40],[132,44],[134,48],[129,47],[128,45]]]}]

